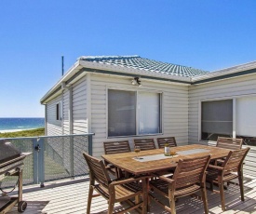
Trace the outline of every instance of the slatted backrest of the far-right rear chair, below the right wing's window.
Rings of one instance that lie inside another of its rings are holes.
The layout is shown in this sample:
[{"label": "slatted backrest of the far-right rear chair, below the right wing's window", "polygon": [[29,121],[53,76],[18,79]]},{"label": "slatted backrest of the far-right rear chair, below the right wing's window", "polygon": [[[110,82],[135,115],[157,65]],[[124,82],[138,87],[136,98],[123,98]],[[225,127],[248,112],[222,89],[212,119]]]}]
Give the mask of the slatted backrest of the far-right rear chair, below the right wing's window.
[{"label": "slatted backrest of the far-right rear chair, below the right wing's window", "polygon": [[240,150],[242,148],[242,144],[243,139],[218,137],[216,146],[224,149]]}]

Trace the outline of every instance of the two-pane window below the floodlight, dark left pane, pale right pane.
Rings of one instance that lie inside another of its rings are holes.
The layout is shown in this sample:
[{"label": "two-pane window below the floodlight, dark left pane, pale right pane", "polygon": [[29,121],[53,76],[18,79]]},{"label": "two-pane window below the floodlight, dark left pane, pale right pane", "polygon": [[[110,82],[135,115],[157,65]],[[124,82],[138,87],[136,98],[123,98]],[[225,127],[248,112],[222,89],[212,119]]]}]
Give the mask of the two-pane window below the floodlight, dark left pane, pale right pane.
[{"label": "two-pane window below the floodlight, dark left pane, pale right pane", "polygon": [[108,90],[108,136],[161,132],[160,94]]}]

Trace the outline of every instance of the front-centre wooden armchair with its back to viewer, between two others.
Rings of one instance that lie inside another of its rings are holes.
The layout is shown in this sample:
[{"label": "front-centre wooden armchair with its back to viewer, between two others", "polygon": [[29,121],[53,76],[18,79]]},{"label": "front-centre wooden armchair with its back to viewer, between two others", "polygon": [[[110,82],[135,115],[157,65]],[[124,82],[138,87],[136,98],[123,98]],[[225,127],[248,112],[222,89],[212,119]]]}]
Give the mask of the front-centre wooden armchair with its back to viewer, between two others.
[{"label": "front-centre wooden armchair with its back to viewer, between two others", "polygon": [[207,191],[206,191],[206,168],[209,165],[210,155],[195,158],[180,159],[172,177],[158,176],[157,179],[150,181],[150,188],[154,193],[162,194],[168,198],[169,207],[155,198],[153,194],[149,194],[150,198],[175,214],[175,200],[186,195],[193,195],[196,192],[202,193],[205,213],[209,213]]}]

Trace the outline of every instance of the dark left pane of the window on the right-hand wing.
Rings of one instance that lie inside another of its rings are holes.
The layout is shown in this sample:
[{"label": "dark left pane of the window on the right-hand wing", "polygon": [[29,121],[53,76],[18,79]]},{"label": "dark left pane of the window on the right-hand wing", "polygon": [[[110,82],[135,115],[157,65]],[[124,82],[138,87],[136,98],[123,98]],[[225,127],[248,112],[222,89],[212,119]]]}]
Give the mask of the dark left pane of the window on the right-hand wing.
[{"label": "dark left pane of the window on the right-hand wing", "polygon": [[233,135],[233,100],[202,102],[202,140],[217,140]]}]

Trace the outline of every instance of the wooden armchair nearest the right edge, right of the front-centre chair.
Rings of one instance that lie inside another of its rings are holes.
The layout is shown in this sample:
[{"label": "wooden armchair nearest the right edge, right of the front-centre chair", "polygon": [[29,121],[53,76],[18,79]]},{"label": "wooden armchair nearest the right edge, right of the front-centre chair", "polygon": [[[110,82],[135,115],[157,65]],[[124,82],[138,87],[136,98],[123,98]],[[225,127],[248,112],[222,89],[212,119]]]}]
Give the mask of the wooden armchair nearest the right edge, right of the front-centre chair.
[{"label": "wooden armchair nearest the right edge, right of the front-centre chair", "polygon": [[224,182],[238,179],[241,200],[244,201],[243,185],[243,161],[249,152],[249,148],[230,151],[222,166],[209,165],[207,171],[207,181],[210,183],[210,189],[213,191],[213,184],[218,184],[219,191],[213,191],[221,194],[222,210],[225,210]]}]

